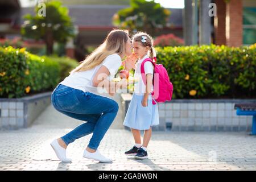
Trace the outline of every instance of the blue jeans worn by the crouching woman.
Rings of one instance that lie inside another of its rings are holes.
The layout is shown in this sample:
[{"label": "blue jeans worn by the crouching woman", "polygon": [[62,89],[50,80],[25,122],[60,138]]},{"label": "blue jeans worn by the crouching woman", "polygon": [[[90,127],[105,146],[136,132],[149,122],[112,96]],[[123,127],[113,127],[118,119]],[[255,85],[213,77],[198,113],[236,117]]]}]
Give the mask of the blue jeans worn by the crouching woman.
[{"label": "blue jeans worn by the crouching woman", "polygon": [[51,101],[53,107],[60,113],[86,121],[61,137],[65,144],[68,145],[78,138],[93,133],[88,147],[94,150],[97,150],[118,111],[117,102],[110,98],[61,84],[53,90]]}]

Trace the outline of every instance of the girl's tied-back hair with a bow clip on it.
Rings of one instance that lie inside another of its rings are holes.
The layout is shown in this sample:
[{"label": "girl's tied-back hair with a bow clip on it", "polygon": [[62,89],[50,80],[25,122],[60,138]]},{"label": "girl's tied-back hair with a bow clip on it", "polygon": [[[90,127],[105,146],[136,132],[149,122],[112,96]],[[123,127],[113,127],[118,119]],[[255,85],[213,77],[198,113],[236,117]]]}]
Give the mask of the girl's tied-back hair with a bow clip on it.
[{"label": "girl's tied-back hair with a bow clip on it", "polygon": [[[146,39],[143,39],[142,37],[146,37]],[[143,42],[142,42],[143,40]],[[144,41],[145,40],[145,41]],[[133,36],[133,41],[135,42],[140,42],[142,44],[143,47],[150,47],[149,50],[149,57],[153,60],[154,57],[156,57],[156,51],[154,48],[154,39],[148,35],[146,32],[137,32],[136,34],[134,34]]]}]

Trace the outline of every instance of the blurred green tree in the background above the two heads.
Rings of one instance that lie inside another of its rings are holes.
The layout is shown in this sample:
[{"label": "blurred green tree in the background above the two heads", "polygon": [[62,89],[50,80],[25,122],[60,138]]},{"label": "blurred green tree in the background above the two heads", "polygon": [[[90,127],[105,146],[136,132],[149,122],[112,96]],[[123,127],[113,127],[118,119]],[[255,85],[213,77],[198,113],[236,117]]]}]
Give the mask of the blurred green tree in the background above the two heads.
[{"label": "blurred green tree in the background above the two heads", "polygon": [[166,26],[171,12],[159,3],[145,0],[131,0],[130,7],[119,10],[113,16],[113,24],[129,30],[146,31],[154,34],[156,28]]}]

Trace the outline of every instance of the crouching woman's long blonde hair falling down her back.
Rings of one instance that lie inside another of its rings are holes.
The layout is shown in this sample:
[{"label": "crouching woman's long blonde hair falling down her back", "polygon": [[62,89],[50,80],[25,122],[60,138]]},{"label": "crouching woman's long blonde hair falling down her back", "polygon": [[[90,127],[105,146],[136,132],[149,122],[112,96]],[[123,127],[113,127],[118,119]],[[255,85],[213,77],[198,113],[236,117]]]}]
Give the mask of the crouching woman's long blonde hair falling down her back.
[{"label": "crouching woman's long blonde hair falling down her back", "polygon": [[100,46],[98,46],[80,65],[73,69],[70,73],[82,72],[100,65],[102,61],[109,55],[117,53],[123,55],[125,53],[126,42],[129,38],[129,32],[126,30],[112,30]]}]

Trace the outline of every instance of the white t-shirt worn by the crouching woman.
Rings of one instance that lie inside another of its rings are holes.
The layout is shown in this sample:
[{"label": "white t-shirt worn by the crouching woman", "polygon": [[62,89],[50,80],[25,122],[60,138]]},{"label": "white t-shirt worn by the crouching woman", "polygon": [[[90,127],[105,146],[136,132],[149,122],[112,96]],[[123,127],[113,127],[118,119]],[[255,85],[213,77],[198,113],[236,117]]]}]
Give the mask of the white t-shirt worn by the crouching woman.
[{"label": "white t-shirt worn by the crouching woman", "polygon": [[97,65],[90,70],[70,74],[63,81],[61,81],[60,84],[69,86],[71,88],[79,89],[84,92],[90,92],[93,94],[105,96],[105,94],[107,93],[105,89],[93,86],[93,77],[98,72],[98,69],[100,69],[100,67],[104,65],[106,68],[108,68],[110,72],[108,79],[112,80],[121,64],[121,57],[118,54],[114,53],[107,56],[100,65]]}]

